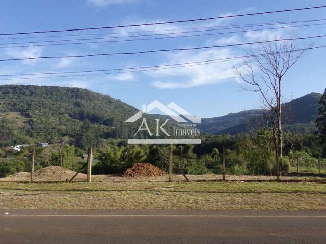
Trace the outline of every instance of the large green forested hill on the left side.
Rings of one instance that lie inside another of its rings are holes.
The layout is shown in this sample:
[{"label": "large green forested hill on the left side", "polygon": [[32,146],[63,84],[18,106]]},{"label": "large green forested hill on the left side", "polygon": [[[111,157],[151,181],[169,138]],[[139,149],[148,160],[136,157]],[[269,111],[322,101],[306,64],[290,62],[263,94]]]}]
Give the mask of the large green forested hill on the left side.
[{"label": "large green forested hill on the left side", "polygon": [[123,121],[138,110],[120,100],[87,89],[57,86],[2,85],[2,146],[55,142],[62,136],[80,147],[86,137],[124,137]]}]

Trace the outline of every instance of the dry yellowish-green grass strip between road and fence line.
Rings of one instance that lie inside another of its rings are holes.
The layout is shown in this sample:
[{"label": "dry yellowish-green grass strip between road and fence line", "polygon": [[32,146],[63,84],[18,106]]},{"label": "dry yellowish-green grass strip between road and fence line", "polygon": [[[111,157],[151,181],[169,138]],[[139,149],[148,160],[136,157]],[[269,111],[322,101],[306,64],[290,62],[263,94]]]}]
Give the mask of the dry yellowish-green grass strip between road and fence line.
[{"label": "dry yellowish-green grass strip between road and fence line", "polygon": [[325,209],[326,184],[297,182],[0,183],[0,209]]}]

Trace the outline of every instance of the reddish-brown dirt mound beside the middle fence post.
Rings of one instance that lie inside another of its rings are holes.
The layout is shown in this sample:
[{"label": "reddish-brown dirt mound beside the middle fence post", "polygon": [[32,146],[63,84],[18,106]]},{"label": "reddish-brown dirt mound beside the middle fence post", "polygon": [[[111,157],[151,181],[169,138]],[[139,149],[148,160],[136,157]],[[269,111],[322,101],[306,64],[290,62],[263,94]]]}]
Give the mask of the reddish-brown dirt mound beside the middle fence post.
[{"label": "reddish-brown dirt mound beside the middle fence post", "polygon": [[155,167],[149,163],[137,163],[132,165],[132,167],[128,168],[122,176],[124,177],[139,177],[139,176],[162,176],[165,175],[166,172]]}]

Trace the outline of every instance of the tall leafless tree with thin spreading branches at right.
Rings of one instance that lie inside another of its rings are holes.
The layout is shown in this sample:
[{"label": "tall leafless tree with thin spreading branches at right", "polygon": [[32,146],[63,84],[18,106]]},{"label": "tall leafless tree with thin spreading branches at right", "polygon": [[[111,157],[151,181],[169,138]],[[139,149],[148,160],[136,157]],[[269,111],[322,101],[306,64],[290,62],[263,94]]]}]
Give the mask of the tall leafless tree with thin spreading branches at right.
[{"label": "tall leafless tree with thin spreading branches at right", "polygon": [[[242,88],[260,93],[262,105],[269,111],[277,179],[280,179],[283,156],[281,108],[283,77],[309,48],[306,44],[296,43],[293,40],[295,36],[287,41],[268,41],[267,36],[267,42],[260,44],[255,51],[251,51],[250,59],[235,68],[236,75],[246,84]],[[281,37],[276,36],[275,40],[277,39]]]}]

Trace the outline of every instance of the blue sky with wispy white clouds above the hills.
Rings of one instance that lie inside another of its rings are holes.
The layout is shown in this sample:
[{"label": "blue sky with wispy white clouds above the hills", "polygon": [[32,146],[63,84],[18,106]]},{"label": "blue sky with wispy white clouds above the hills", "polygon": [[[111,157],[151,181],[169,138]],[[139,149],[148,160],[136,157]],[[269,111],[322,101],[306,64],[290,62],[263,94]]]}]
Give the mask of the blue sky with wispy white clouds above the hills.
[{"label": "blue sky with wispy white clouds above the hills", "polygon": [[[0,33],[165,22],[282,9],[304,8],[319,5],[326,5],[326,1],[2,0]],[[5,44],[99,37],[104,39],[94,41],[126,40],[132,39],[131,36],[133,35],[182,32],[179,29],[186,28],[212,26],[216,26],[216,28],[223,28],[223,26],[225,27],[239,24],[259,24],[269,22],[322,19],[325,18],[325,14],[326,8],[323,8],[316,10],[234,17],[189,23],[100,29],[69,33],[19,35],[19,38],[28,37],[24,39],[10,39],[17,38],[18,36],[8,35],[0,37],[0,45],[3,44],[0,48],[0,57],[1,59],[7,59],[41,57],[49,55],[69,56],[156,49],[193,48],[241,42],[263,41],[267,36],[270,39],[273,39],[274,36],[288,37],[289,35],[292,35],[293,32],[298,33],[298,36],[300,37],[325,35],[326,24],[265,31],[251,31],[252,29],[263,27],[248,27],[240,29],[243,31],[241,33],[227,33],[183,38],[177,37],[180,35],[189,35],[186,33],[173,34],[173,36],[176,38],[171,39],[138,40],[111,43],[106,42],[56,46],[37,46],[42,43]],[[326,21],[319,23],[326,23]],[[281,25],[273,25],[273,27],[280,26]],[[282,26],[291,26],[291,24]],[[166,31],[175,29],[178,31]],[[231,31],[236,31],[236,29],[231,29]],[[211,31],[206,33],[216,32],[219,33],[221,31]],[[230,32],[230,30],[222,32]],[[190,33],[190,35],[191,34],[194,33]],[[49,37],[56,35],[74,36]],[[105,39],[105,37],[118,36],[121,38]],[[149,38],[151,38],[151,36],[149,36]],[[312,43],[309,41],[307,44]],[[25,47],[7,47],[13,45],[24,45]],[[314,39],[313,45],[326,45],[326,37]],[[250,51],[255,52],[254,45],[145,53],[138,55],[11,61],[1,62],[0,75],[121,69],[130,67],[179,64],[197,62],[201,60],[243,56],[250,53]],[[311,92],[322,93],[326,88],[325,57],[326,48],[315,49],[307,52],[305,56],[300,59],[299,62],[295,64],[295,66],[293,66],[284,76],[284,98],[290,100]],[[161,69],[155,71],[41,79],[4,80],[6,78],[12,78],[12,76],[1,76],[0,84],[33,84],[81,87],[110,95],[111,97],[120,99],[121,101],[138,109],[141,109],[143,104],[149,104],[154,100],[158,100],[164,104],[174,102],[195,116],[216,117],[231,112],[260,107],[259,94],[246,92],[241,89],[242,84],[236,77],[233,68],[238,64],[238,60],[233,60],[231,62],[177,67],[173,69]],[[23,78],[25,76],[21,77]],[[37,76],[35,75],[34,77]]]}]

